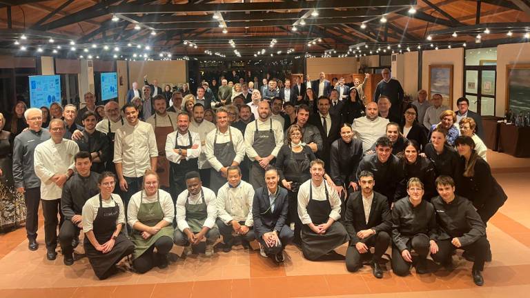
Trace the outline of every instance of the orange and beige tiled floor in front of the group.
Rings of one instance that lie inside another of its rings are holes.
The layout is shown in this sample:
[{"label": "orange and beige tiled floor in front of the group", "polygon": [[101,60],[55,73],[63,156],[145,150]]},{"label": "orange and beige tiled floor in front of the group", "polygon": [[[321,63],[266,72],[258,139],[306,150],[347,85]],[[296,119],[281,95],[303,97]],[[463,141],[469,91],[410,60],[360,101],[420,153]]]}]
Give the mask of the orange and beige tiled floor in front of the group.
[{"label": "orange and beige tiled floor in front of the group", "polygon": [[[86,258],[70,267],[63,266],[61,255],[47,261],[42,229],[41,248],[30,252],[21,228],[0,234],[0,297],[524,297],[530,291],[530,159],[491,151],[488,158],[509,199],[488,226],[493,261],[484,270],[482,288],[471,281],[471,264],[460,253],[453,272],[440,269],[419,276],[412,270],[409,277],[396,277],[386,271],[378,280],[366,266],[351,274],[344,261],[307,261],[294,246],[286,248],[288,257],[281,266],[237,246],[210,259],[177,258],[165,270],[144,275],[125,271],[99,281]],[[81,246],[76,251],[83,252]],[[181,249],[173,252],[179,255]]]}]

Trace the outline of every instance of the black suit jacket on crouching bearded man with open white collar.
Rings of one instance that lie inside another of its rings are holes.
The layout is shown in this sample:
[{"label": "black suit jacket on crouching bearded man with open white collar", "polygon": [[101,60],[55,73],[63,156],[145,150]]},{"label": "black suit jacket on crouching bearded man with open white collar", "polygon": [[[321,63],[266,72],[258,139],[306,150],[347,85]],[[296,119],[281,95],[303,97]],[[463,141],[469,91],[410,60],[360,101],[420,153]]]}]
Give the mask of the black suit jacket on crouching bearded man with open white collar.
[{"label": "black suit jacket on crouching bearded man with open white collar", "polygon": [[[360,230],[373,229],[375,232],[391,232],[392,215],[389,208],[389,201],[384,195],[373,192],[372,205],[368,224],[364,219],[364,207],[362,205],[362,193],[351,192],[348,201],[346,201],[346,215],[344,218],[344,227],[350,235],[350,245],[354,246],[357,242],[365,243],[369,238],[359,239],[357,232]],[[373,235],[372,237],[375,237]]]}]

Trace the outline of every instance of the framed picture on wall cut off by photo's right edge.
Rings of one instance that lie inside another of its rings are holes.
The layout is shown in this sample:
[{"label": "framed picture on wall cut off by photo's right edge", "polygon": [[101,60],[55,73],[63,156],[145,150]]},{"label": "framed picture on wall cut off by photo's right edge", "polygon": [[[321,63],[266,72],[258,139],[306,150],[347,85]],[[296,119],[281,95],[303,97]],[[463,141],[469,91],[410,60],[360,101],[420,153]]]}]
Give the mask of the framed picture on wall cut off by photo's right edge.
[{"label": "framed picture on wall cut off by photo's right edge", "polygon": [[512,112],[530,112],[530,64],[506,66],[506,107]]}]

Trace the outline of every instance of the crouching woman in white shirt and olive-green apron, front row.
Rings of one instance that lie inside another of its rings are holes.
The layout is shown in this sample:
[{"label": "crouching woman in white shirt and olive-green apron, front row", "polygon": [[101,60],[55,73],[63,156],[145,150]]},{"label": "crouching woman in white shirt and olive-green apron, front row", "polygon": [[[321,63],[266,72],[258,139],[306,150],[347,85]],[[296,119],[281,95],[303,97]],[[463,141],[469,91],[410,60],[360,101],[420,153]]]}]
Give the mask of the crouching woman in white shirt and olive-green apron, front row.
[{"label": "crouching woman in white shirt and olive-green apron, front row", "polygon": [[168,267],[168,254],[173,248],[171,225],[175,219],[173,200],[168,192],[159,189],[157,172],[146,170],[143,188],[130,198],[127,208],[127,221],[133,228],[130,240],[135,244],[133,268],[139,273],[154,266]]}]

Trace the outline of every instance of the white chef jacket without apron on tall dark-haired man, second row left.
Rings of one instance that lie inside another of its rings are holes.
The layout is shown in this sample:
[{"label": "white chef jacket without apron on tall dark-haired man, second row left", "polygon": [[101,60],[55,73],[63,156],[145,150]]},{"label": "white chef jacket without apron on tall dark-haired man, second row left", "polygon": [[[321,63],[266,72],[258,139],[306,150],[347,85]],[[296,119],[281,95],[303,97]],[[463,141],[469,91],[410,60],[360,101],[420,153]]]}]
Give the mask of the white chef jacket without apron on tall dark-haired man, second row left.
[{"label": "white chef jacket without apron on tall dark-haired man, second row left", "polygon": [[121,163],[125,177],[143,177],[151,168],[150,157],[158,157],[153,126],[138,121],[131,126],[127,121],[116,131],[114,163]]}]

